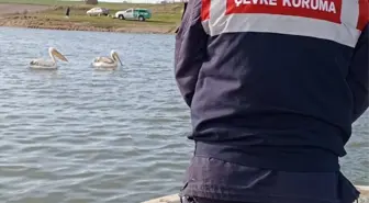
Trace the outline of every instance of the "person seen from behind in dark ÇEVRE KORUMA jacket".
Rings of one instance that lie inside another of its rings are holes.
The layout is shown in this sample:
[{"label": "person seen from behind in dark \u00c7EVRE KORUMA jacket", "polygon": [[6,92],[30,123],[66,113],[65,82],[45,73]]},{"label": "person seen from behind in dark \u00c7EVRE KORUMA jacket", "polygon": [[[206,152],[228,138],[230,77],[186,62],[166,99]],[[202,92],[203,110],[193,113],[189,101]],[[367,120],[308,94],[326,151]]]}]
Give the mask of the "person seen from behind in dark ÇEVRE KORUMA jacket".
[{"label": "person seen from behind in dark \u00c7EVRE KORUMA jacket", "polygon": [[369,105],[369,3],[192,0],[175,76],[195,148],[192,203],[351,203],[340,172]]}]

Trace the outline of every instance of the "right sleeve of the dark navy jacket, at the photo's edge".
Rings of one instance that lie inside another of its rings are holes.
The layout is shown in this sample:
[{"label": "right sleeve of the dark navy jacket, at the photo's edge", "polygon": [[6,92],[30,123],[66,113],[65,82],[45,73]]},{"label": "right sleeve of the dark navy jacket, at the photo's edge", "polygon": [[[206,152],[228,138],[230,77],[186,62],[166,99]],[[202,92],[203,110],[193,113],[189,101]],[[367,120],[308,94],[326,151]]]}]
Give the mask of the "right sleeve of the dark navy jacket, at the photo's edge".
[{"label": "right sleeve of the dark navy jacket, at the photo's edge", "polygon": [[361,32],[355,47],[347,82],[353,92],[354,123],[369,106],[369,24]]}]

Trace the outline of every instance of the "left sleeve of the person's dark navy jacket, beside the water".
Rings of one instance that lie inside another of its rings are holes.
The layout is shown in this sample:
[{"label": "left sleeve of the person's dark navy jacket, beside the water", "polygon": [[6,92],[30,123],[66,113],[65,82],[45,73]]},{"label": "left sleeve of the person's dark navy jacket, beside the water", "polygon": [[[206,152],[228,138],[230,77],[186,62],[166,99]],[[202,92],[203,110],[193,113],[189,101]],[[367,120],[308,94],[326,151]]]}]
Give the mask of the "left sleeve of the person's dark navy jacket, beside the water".
[{"label": "left sleeve of the person's dark navy jacket, beside the water", "polygon": [[199,71],[206,56],[206,43],[208,34],[201,23],[201,0],[191,0],[176,34],[175,49],[176,82],[188,106],[191,106]]}]

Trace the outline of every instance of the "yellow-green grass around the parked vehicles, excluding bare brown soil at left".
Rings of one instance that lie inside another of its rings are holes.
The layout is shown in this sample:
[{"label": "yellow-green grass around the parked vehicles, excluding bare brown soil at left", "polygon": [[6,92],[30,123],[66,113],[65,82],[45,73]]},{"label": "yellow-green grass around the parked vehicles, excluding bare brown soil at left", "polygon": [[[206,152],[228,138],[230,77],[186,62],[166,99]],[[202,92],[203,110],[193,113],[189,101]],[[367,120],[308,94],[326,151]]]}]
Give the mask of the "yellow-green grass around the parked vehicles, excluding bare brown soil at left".
[{"label": "yellow-green grass around the parked vehicles, excluding bare brown soil at left", "polygon": [[[55,0],[0,0],[0,3],[25,3],[25,4],[45,4],[52,5],[51,9],[37,13],[27,13],[27,16],[35,18],[42,23],[57,22],[80,23],[83,25],[101,29],[124,29],[124,27],[155,27],[174,31],[180,23],[183,5],[180,3],[168,4],[145,4],[145,3],[99,3],[98,5],[88,5],[83,2],[66,2]],[[65,11],[70,7],[70,18],[65,19]],[[128,8],[146,8],[152,10],[152,19],[139,21],[126,21],[112,19],[110,16],[88,16],[86,11],[92,7],[103,7],[110,9],[110,14]],[[20,13],[22,15],[22,13]]]}]

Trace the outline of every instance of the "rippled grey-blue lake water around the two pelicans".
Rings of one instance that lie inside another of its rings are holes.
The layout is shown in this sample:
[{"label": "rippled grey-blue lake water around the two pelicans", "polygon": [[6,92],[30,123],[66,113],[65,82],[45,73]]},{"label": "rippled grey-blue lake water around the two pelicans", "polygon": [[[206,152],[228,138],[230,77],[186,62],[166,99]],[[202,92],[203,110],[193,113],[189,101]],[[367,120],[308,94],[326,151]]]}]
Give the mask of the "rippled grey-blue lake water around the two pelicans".
[{"label": "rippled grey-blue lake water around the two pelicans", "polygon": [[[0,27],[0,201],[138,203],[181,187],[192,143],[174,79],[172,35]],[[56,47],[69,63],[27,68]],[[96,56],[123,67],[97,71]],[[369,114],[342,160],[369,184]]]}]

